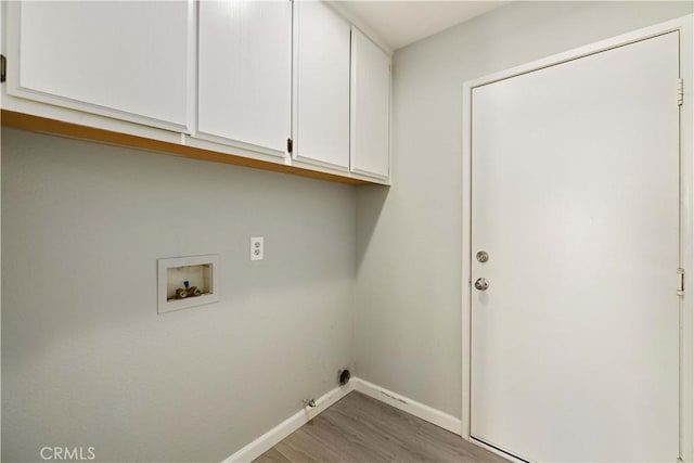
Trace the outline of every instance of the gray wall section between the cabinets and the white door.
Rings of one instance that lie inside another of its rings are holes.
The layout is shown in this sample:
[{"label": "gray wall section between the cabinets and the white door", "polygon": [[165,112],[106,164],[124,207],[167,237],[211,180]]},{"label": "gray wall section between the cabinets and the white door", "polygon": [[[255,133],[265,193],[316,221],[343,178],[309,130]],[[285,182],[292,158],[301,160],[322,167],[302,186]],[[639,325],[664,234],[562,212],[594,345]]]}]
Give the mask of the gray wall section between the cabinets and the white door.
[{"label": "gray wall section between the cabinets and the white door", "polygon": [[357,374],[461,416],[462,85],[692,12],[513,2],[394,57],[393,187],[357,193]]}]

